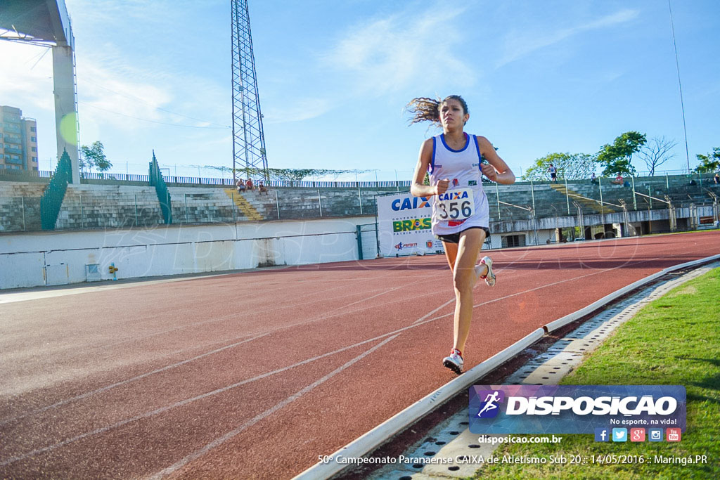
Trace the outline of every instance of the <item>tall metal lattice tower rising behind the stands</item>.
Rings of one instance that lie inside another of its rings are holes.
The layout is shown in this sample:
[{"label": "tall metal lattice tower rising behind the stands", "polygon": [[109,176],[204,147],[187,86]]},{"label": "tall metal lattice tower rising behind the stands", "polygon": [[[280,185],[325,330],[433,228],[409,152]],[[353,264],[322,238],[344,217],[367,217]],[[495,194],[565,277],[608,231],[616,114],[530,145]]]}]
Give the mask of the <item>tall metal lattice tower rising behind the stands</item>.
[{"label": "tall metal lattice tower rising behind the stands", "polygon": [[256,168],[268,180],[248,0],[231,0],[233,17],[233,181],[236,168]]}]

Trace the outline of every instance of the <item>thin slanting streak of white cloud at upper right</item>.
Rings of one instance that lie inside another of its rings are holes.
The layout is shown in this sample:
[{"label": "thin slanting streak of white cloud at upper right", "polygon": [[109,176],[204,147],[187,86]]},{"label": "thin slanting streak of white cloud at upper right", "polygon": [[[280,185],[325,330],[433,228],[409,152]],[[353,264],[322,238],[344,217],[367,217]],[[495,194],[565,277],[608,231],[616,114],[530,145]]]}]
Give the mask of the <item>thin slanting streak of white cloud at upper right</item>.
[{"label": "thin slanting streak of white cloud at upper right", "polygon": [[638,15],[638,10],[623,9],[591,22],[585,22],[563,29],[548,32],[510,32],[505,37],[505,53],[495,64],[495,68],[500,68],[537,50],[562,42],[575,35],[630,22],[638,17]]}]

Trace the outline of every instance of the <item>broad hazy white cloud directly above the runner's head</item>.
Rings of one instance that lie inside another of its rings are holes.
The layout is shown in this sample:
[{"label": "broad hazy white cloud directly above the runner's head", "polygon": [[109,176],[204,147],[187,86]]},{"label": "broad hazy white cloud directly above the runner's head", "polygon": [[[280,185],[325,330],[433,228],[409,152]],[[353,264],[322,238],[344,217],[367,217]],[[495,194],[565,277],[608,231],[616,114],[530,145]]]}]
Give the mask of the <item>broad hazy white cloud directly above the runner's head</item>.
[{"label": "broad hazy white cloud directly above the runner's head", "polygon": [[436,4],[423,12],[403,10],[382,19],[370,17],[343,30],[334,45],[317,55],[313,71],[323,72],[326,86],[266,109],[268,124],[320,117],[361,97],[412,89],[432,94],[448,78],[459,86],[474,83],[475,74],[457,55],[463,38],[456,23],[464,9]]}]

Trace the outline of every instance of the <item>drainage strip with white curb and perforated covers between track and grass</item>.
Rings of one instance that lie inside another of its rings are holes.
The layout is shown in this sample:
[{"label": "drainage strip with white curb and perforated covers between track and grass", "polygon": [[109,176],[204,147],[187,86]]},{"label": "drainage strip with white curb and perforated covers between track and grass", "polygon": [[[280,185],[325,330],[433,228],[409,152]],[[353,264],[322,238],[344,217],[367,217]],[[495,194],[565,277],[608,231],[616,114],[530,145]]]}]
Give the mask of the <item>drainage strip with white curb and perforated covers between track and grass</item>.
[{"label": "drainage strip with white curb and perforated covers between track and grass", "polygon": [[[720,266],[719,261],[720,255],[714,255],[666,268],[554,320],[328,456],[332,460],[308,468],[295,480],[472,476],[482,466],[477,458],[487,459],[496,447],[488,441],[492,435],[479,438],[468,430],[469,386],[557,384],[644,305]],[[341,465],[338,458],[352,462]]]}]

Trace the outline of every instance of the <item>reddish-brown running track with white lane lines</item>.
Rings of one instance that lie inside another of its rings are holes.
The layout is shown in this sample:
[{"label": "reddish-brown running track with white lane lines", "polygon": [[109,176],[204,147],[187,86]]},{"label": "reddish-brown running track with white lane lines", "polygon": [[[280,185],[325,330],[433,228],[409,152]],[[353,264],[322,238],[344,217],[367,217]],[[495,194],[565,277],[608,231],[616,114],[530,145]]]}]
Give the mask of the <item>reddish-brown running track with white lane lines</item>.
[{"label": "reddish-brown running track with white lane lines", "polygon": [[[467,368],[719,232],[491,253]],[[287,479],[453,378],[440,255],[0,304],[0,476]]]}]

